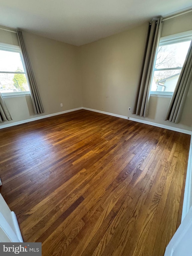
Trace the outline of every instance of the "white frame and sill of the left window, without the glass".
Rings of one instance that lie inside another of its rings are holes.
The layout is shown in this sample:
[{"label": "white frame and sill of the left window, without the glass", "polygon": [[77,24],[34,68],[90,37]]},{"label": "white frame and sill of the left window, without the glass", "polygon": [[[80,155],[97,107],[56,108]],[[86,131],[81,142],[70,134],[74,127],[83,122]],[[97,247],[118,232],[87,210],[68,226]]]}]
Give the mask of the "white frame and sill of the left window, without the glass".
[{"label": "white frame and sill of the left window, without the glass", "polygon": [[[26,70],[25,70],[25,65],[23,62],[22,54],[21,54],[21,49],[18,45],[12,45],[12,44],[4,44],[0,43],[0,50],[3,51],[8,51],[8,52],[14,52],[14,53],[19,53],[23,65],[24,72],[10,72],[10,71],[0,71],[0,73],[10,73],[10,74],[25,74],[26,75]],[[27,76],[26,76],[27,77]],[[28,83],[28,81],[27,81]],[[29,86],[29,83],[28,83]],[[15,98],[15,97],[24,97],[30,95],[30,91],[22,91],[22,92],[1,92],[1,95],[3,98]]]}]

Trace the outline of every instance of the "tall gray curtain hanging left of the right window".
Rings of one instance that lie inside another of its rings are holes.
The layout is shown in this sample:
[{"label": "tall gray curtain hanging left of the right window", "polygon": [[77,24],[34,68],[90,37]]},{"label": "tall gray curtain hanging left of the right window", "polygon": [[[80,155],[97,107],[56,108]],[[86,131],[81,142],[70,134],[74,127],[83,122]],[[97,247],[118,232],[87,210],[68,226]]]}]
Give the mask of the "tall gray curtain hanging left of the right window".
[{"label": "tall gray curtain hanging left of the right window", "polygon": [[149,25],[148,34],[145,41],[142,68],[140,71],[140,79],[135,94],[134,105],[132,108],[132,114],[136,114],[137,116],[148,116],[151,84],[162,26],[162,17],[153,20]]}]

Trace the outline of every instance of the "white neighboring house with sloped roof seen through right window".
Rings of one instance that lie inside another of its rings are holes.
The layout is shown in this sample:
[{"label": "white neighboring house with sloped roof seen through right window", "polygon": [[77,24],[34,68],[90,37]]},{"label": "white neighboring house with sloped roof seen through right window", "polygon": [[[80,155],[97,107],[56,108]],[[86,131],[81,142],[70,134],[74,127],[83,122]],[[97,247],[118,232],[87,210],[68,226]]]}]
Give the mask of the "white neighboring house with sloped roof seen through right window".
[{"label": "white neighboring house with sloped roof seen through right window", "polygon": [[158,92],[173,92],[177,83],[177,80],[179,78],[180,73],[177,73],[173,76],[164,78],[160,80],[158,83],[156,83]]}]

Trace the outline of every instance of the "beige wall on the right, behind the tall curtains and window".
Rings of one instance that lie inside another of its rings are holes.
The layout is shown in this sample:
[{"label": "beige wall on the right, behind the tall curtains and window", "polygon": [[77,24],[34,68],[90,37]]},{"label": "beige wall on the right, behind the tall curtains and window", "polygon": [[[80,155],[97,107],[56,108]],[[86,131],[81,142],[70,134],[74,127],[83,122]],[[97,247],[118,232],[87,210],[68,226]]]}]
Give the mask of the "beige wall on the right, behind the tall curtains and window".
[{"label": "beige wall on the right, behind the tall curtains and window", "polygon": [[[83,106],[144,119],[132,115],[132,107],[148,23],[80,47]],[[164,22],[162,36],[192,30],[192,13]],[[192,88],[179,124],[164,121],[170,98],[150,98],[147,121],[192,131]]]}]

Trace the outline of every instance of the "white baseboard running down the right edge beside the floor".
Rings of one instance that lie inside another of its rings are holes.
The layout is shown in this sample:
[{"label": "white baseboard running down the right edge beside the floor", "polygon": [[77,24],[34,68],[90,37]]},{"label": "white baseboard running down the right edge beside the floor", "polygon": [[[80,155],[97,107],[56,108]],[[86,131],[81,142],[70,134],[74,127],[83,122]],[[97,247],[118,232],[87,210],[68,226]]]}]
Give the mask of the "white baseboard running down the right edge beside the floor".
[{"label": "white baseboard running down the right edge beside the floor", "polygon": [[183,200],[183,209],[182,209],[182,221],[186,216],[192,205],[192,136],[190,140],[190,148],[189,148],[189,158],[187,164],[187,176],[185,182],[185,191],[184,191],[184,200]]}]

